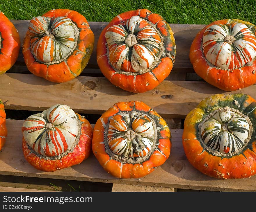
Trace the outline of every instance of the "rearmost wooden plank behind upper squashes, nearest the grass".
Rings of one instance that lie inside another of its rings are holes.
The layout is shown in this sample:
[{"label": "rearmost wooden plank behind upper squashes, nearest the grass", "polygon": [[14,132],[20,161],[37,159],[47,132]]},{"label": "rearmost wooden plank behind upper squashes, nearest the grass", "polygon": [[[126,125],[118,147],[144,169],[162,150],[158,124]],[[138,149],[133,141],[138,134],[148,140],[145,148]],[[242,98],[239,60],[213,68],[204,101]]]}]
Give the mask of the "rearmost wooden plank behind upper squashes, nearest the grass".
[{"label": "rearmost wooden plank behind upper squashes, nearest the grass", "polygon": [[[21,45],[23,43],[23,38],[28,29],[29,20],[10,20],[17,30],[19,31]],[[95,35],[95,46],[93,54],[89,60],[87,68],[96,68],[96,46],[99,39],[99,35],[108,22],[89,22],[90,28]],[[189,60],[189,49],[195,35],[200,31],[205,25],[196,24],[170,24],[175,37],[176,44],[176,59],[173,66],[173,72],[193,72],[193,67]],[[18,62],[24,62],[22,55],[22,48],[20,49]]]}]

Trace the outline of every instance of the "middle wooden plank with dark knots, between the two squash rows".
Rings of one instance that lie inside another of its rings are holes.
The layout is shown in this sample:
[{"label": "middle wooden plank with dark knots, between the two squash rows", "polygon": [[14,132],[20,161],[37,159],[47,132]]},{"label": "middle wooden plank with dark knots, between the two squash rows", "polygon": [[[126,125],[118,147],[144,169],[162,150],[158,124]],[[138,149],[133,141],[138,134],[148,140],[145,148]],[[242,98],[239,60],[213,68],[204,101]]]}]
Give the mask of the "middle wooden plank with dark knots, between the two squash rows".
[{"label": "middle wooden plank with dark knots, between the two squash rows", "polygon": [[3,102],[8,100],[6,109],[20,110],[42,111],[62,103],[76,112],[102,114],[117,102],[140,100],[163,118],[185,118],[200,101],[211,94],[245,93],[256,98],[255,85],[229,92],[197,81],[164,80],[155,89],[143,94],[124,91],[102,77],[78,76],[56,84],[33,74],[5,73],[0,76],[0,81],[0,98]]}]

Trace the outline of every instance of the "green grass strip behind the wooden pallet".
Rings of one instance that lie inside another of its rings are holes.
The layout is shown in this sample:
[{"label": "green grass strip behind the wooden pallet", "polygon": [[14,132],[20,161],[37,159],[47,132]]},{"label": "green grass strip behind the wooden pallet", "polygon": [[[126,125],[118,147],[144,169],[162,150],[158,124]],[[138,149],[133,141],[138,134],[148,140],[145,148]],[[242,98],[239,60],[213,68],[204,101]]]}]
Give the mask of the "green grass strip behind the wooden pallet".
[{"label": "green grass strip behind the wooden pallet", "polygon": [[241,19],[256,24],[254,0],[0,0],[0,10],[9,19],[32,19],[51,9],[76,10],[88,21],[109,22],[116,15],[146,8],[168,23],[209,24],[220,19]]}]

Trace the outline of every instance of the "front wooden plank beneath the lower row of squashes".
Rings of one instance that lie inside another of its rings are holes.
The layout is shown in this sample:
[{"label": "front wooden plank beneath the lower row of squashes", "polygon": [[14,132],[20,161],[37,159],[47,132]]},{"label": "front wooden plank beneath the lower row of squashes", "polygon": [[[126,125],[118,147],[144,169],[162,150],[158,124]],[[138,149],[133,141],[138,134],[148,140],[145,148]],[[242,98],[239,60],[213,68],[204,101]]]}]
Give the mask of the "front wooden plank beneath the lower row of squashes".
[{"label": "front wooden plank beneath the lower row of squashes", "polygon": [[33,168],[22,153],[22,120],[7,120],[8,136],[0,152],[0,174],[52,179],[69,179],[117,184],[186,188],[212,191],[256,191],[256,175],[246,179],[215,179],[193,168],[182,146],[183,130],[173,130],[172,150],[166,162],[149,175],[139,179],[118,179],[109,175],[93,154],[81,164],[55,172]]}]

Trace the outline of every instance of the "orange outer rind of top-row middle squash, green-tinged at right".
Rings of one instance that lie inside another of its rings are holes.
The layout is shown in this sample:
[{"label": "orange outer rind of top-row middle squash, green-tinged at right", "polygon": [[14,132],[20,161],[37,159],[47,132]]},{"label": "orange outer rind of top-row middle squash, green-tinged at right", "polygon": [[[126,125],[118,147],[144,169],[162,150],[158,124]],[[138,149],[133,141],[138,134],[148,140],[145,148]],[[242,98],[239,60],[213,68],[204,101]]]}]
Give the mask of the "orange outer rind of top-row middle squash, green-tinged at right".
[{"label": "orange outer rind of top-row middle squash, green-tinged at right", "polygon": [[[120,71],[115,69],[109,59],[109,48],[106,44],[106,31],[113,25],[122,24],[131,17],[138,16],[151,24],[161,37],[162,50],[154,63],[145,70],[138,72]],[[134,93],[143,93],[161,83],[173,68],[175,60],[175,39],[169,24],[163,18],[147,9],[124,12],[104,28],[97,44],[97,63],[104,76],[115,86]]]}]

